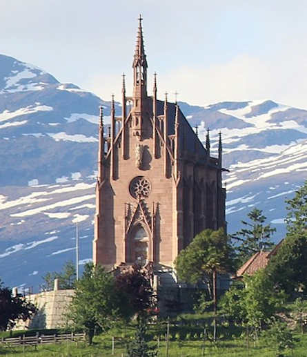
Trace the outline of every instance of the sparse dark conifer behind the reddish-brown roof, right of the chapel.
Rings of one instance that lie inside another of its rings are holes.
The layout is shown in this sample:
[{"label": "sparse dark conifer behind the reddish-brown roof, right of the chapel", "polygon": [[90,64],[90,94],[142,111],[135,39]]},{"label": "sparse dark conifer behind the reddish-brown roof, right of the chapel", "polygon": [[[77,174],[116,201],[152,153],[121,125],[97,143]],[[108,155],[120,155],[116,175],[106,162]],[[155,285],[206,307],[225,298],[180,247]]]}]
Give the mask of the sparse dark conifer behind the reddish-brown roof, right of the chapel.
[{"label": "sparse dark conifer behind the reddish-brown roof, right of the chapel", "polygon": [[261,209],[252,209],[248,213],[248,221],[241,221],[244,228],[231,236],[232,239],[239,242],[237,245],[237,262],[239,266],[244,264],[253,254],[261,250],[270,250],[274,246],[271,242],[271,236],[276,231],[266,222],[266,216]]}]

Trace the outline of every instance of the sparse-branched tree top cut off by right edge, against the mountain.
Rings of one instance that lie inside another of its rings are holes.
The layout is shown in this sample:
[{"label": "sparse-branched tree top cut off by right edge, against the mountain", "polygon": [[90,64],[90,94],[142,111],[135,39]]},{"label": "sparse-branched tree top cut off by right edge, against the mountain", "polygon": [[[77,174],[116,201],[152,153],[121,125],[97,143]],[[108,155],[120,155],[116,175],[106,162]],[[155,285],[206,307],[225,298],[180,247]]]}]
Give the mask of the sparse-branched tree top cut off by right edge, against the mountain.
[{"label": "sparse-branched tree top cut off by right edge, against the mountain", "polygon": [[286,200],[288,235],[307,235],[307,180],[295,191],[295,197]]}]

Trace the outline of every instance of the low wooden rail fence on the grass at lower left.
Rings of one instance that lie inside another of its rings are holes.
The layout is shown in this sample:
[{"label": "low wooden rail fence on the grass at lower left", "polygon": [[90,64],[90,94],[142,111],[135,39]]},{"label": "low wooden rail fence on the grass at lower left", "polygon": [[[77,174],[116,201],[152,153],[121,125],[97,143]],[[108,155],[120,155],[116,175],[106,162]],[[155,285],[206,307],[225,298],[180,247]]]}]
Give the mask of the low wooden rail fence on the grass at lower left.
[{"label": "low wooden rail fence on the grass at lower left", "polygon": [[39,345],[47,343],[57,343],[62,341],[75,341],[84,340],[85,334],[54,334],[54,335],[39,335],[36,336],[19,336],[10,338],[1,338],[0,344],[8,346],[26,346],[26,345]]}]

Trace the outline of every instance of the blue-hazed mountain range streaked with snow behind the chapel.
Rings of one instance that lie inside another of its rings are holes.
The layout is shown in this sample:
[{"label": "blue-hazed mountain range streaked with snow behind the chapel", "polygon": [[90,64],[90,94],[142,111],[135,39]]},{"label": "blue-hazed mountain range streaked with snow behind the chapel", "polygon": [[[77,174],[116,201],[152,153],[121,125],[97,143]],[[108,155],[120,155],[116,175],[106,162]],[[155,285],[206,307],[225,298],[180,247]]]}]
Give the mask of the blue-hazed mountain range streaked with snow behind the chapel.
[{"label": "blue-hazed mountain range streaked with snow behind the chapel", "polygon": [[[101,104],[108,122],[110,102],[0,55],[0,278],[6,284],[37,288],[46,271],[74,260],[77,221],[80,263],[91,258]],[[228,231],[237,231],[257,206],[280,240],[284,199],[307,177],[307,110],[271,100],[179,106],[202,141],[210,128],[211,155],[221,131],[230,170]]]}]

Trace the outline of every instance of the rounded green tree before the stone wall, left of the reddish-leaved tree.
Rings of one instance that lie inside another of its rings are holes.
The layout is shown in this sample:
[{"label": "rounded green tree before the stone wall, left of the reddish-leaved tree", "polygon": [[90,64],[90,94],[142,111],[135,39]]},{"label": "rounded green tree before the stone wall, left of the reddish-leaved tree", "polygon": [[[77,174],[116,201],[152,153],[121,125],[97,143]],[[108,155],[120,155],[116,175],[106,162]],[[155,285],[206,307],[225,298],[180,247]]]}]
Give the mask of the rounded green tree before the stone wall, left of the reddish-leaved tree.
[{"label": "rounded green tree before the stone wall, left of the reddish-leaved tree", "polygon": [[112,274],[100,265],[86,264],[67,317],[74,327],[86,332],[91,344],[95,329],[107,331],[119,319],[120,302]]}]

